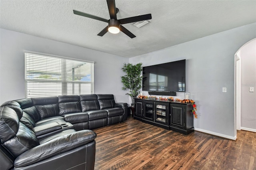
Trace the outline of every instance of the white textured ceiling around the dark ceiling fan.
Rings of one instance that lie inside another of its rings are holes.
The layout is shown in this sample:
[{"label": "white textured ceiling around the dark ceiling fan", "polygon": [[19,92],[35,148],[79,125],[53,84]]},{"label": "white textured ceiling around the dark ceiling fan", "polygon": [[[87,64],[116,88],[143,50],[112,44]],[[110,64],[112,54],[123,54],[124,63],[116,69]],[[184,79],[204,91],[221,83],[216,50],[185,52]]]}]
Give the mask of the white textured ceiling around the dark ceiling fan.
[{"label": "white textured ceiling around the dark ceiling fan", "polygon": [[152,14],[149,24],[123,26],[124,33],[97,34],[106,22],[73,14],[78,10],[109,19],[106,0],[0,0],[0,28],[134,57],[256,22],[256,0],[116,0],[118,19]]}]

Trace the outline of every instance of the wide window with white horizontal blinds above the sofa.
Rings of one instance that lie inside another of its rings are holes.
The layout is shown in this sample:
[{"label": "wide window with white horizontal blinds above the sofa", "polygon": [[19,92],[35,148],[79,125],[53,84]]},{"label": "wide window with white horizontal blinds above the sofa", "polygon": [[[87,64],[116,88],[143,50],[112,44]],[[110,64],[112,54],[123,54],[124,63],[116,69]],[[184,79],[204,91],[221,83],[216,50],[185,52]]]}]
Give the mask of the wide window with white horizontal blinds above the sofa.
[{"label": "wide window with white horizontal blinds above the sofa", "polygon": [[94,62],[25,53],[26,97],[94,93]]}]

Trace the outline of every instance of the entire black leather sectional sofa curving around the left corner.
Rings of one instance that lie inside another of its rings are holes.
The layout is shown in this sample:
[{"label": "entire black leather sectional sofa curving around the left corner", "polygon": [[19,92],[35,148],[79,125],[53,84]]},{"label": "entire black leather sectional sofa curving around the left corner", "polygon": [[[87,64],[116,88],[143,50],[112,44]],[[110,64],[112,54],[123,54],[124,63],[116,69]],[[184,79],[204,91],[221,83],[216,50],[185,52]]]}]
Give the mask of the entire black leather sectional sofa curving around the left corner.
[{"label": "entire black leather sectional sofa curving around the left corner", "polygon": [[62,95],[0,107],[0,169],[93,170],[96,133],[127,119],[113,95]]}]

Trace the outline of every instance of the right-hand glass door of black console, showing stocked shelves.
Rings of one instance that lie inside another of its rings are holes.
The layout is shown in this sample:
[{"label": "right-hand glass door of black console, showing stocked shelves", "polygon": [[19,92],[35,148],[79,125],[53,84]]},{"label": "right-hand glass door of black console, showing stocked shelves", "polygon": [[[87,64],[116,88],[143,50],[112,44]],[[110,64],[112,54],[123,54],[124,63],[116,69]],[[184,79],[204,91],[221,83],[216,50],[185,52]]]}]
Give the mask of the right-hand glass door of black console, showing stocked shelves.
[{"label": "right-hand glass door of black console, showing stocked shelves", "polygon": [[155,103],[155,122],[168,125],[168,103]]}]

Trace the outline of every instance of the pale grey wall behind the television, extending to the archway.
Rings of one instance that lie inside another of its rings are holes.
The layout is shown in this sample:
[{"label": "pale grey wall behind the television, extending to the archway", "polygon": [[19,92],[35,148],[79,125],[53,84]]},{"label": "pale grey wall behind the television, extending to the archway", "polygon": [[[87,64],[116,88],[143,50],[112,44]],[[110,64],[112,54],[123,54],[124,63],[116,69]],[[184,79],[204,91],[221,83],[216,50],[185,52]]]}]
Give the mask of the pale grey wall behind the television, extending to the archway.
[{"label": "pale grey wall behind the television, extending to the archway", "polygon": [[132,57],[129,62],[148,66],[186,59],[186,91],[198,109],[195,129],[235,139],[234,54],[253,38],[256,23]]}]

